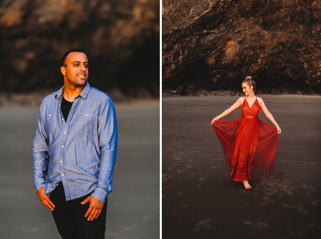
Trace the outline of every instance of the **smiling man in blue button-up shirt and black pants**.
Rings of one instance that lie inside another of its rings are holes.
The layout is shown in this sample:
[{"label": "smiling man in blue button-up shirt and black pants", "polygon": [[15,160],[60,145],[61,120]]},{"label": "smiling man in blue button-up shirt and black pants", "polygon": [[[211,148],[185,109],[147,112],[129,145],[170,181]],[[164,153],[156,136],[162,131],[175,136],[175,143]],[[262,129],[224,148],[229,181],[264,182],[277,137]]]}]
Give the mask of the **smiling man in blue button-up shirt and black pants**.
[{"label": "smiling man in blue button-up shirt and black pants", "polygon": [[64,86],[41,102],[33,141],[35,188],[64,239],[104,238],[112,192],[116,113],[109,96],[87,82],[88,66],[81,49],[65,53]]}]

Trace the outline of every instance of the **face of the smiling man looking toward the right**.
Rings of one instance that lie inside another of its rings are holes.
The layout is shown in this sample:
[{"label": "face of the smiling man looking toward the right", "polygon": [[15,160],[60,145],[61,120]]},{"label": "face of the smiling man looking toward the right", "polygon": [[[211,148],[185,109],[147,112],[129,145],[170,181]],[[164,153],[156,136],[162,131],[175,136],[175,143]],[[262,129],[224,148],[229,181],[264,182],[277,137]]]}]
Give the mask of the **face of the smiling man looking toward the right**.
[{"label": "face of the smiling man looking toward the right", "polygon": [[[61,67],[65,84],[81,87],[88,80],[88,58],[83,52],[71,52],[65,59],[66,67]],[[67,81],[67,82],[66,82]]]}]

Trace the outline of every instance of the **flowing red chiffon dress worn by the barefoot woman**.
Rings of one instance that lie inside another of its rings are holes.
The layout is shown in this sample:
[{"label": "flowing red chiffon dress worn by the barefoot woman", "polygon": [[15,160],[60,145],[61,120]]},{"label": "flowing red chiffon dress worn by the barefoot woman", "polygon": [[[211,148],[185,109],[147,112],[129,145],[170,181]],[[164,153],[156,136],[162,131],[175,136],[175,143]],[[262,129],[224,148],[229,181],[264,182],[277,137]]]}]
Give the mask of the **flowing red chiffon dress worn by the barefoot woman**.
[{"label": "flowing red chiffon dress worn by the barefoot woman", "polygon": [[251,108],[244,99],[241,110],[241,118],[213,124],[231,168],[230,179],[246,181],[269,176],[273,172],[279,141],[277,129],[258,119],[257,99]]}]

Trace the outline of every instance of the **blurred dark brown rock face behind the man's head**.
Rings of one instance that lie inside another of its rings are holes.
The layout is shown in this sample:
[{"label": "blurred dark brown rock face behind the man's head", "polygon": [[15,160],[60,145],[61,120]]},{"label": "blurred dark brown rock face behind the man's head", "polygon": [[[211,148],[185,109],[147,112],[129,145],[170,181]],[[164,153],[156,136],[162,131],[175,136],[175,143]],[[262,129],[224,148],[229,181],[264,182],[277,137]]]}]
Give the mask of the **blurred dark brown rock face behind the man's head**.
[{"label": "blurred dark brown rock face behind the man's head", "polygon": [[159,95],[158,0],[4,0],[0,90],[63,85],[60,60],[87,52],[91,86]]}]

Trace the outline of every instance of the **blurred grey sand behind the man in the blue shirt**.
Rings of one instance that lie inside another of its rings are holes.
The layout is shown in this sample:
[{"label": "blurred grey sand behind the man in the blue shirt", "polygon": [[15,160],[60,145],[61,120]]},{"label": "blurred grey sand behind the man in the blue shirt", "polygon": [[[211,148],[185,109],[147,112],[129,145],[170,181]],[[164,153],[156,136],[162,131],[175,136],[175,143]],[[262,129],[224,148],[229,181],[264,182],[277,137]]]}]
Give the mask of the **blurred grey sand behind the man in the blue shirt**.
[{"label": "blurred grey sand behind the man in the blue shirt", "polygon": [[[118,153],[106,238],[159,238],[159,101],[115,103]],[[0,238],[61,238],[33,186],[38,107],[0,108]]]}]

